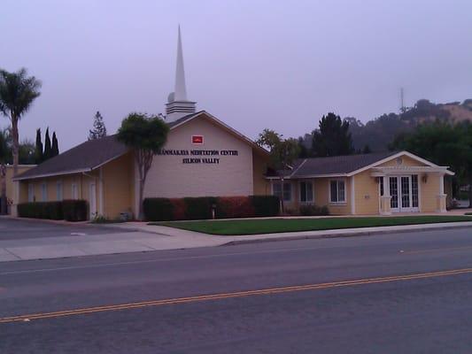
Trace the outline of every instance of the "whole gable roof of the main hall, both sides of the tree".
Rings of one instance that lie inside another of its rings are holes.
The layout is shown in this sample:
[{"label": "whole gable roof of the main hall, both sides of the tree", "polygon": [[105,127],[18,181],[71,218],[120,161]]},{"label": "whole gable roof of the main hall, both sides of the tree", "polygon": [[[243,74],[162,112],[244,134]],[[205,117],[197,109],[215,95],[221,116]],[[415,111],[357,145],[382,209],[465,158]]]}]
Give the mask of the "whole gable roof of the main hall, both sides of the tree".
[{"label": "whole gable roof of the main hall, both sides of the tree", "polygon": [[[253,149],[259,150],[261,153],[268,154],[268,151],[259,147],[255,142],[252,142],[248,137],[238,133],[232,127],[224,124],[220,119],[216,119],[213,115],[205,111],[191,113],[173,122],[167,123],[169,128],[173,130],[185,123],[190,122],[197,117],[206,117],[211,119],[214,124],[225,129],[231,135],[248,143]],[[119,158],[128,152],[129,148],[116,140],[116,135],[108,135],[101,139],[89,140],[82,142],[70,150],[66,150],[60,155],[44,161],[42,164],[31,168],[25,173],[20,173],[13,178],[13,181],[28,180],[34,178],[50,177],[60,174],[71,173],[85,173],[92,171],[101,165],[104,165],[115,158]]]}]

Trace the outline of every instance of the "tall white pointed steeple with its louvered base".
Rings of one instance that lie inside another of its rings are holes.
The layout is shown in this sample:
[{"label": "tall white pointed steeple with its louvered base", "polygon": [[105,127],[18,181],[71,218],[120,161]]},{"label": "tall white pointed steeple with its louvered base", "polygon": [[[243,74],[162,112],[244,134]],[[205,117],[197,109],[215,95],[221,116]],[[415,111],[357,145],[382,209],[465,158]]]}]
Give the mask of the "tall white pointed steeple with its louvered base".
[{"label": "tall white pointed steeple with its louvered base", "polygon": [[183,68],[181,27],[177,40],[177,65],[175,67],[175,87],[166,104],[166,121],[172,122],[183,116],[196,112],[196,103],[187,100],[185,87],[185,70]]}]

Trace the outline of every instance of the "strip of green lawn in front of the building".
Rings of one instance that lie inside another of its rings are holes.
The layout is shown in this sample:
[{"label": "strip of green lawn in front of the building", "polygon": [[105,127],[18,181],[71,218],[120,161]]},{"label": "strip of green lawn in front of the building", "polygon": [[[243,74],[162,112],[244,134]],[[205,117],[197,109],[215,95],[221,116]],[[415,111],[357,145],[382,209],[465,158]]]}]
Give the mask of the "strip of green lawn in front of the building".
[{"label": "strip of green lawn in front of the building", "polygon": [[331,230],[354,227],[386,227],[396,225],[433,224],[438,222],[472,221],[470,216],[401,216],[322,219],[238,219],[204,221],[167,221],[151,223],[182,228],[210,235],[258,235],[283,232]]}]

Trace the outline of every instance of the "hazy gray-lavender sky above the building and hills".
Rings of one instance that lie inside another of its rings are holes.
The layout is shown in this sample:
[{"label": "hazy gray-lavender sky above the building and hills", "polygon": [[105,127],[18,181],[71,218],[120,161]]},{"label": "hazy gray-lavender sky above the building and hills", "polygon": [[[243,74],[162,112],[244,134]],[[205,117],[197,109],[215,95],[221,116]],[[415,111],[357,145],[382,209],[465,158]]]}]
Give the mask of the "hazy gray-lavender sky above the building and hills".
[{"label": "hazy gray-lavender sky above the building and hills", "polygon": [[[362,121],[406,104],[472,98],[470,0],[2,0],[0,67],[42,96],[20,139],[61,151],[129,112],[164,112],[182,26],[189,98],[241,133],[298,136],[337,112]],[[2,118],[3,125],[6,119]]]}]

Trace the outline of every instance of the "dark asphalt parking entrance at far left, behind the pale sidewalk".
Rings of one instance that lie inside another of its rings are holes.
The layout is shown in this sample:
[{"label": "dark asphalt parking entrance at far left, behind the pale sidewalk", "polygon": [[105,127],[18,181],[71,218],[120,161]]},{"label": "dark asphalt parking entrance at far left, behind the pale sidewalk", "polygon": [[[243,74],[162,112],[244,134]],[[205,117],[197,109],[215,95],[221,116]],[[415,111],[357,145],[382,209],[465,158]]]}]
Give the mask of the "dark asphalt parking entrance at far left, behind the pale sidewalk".
[{"label": "dark asphalt parking entrance at far left, behind the pale sidewalk", "polygon": [[102,235],[127,232],[125,229],[84,224],[58,225],[42,220],[0,219],[0,241],[70,235]]}]

